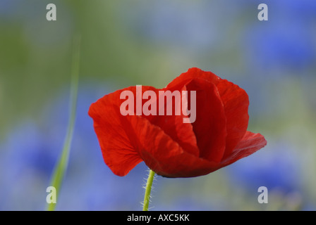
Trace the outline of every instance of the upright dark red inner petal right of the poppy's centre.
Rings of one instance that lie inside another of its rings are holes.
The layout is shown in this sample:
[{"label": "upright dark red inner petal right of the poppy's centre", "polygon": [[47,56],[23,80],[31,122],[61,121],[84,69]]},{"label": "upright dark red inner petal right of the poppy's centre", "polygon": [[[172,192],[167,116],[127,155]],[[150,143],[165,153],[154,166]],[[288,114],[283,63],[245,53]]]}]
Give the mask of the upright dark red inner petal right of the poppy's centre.
[{"label": "upright dark red inner petal right of the poppy's centre", "polygon": [[188,91],[196,91],[196,120],[193,131],[200,149],[200,158],[220,162],[226,144],[226,115],[219,91],[214,83],[219,77],[212,72],[190,68],[176,77],[166,89],[186,85]]}]

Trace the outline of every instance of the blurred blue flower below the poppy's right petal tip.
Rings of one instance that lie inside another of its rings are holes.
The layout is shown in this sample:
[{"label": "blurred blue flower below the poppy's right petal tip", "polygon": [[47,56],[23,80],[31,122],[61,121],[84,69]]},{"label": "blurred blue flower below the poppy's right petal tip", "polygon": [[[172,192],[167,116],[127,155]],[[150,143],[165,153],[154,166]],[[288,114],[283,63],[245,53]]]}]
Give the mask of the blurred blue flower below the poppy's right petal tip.
[{"label": "blurred blue flower below the poppy's right petal tip", "polygon": [[298,155],[286,143],[268,144],[262,152],[245,158],[247,162],[227,167],[233,185],[241,185],[249,193],[257,193],[260,186],[282,193],[299,191],[300,162]]}]

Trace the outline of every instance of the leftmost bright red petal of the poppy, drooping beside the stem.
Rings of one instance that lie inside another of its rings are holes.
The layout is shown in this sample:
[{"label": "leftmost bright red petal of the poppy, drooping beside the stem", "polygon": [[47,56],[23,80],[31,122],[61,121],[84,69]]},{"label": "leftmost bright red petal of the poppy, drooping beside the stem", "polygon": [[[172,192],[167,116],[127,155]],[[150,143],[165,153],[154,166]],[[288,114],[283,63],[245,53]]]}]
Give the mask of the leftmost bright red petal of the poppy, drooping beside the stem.
[{"label": "leftmost bright red petal of the poppy, drooping beside the stem", "polygon": [[[142,90],[154,90],[150,86],[142,86]],[[123,91],[132,91],[135,96],[135,86],[108,94],[90,106],[88,114],[94,120],[95,132],[102,150],[104,162],[118,176],[125,176],[135,165],[142,162],[135,148],[135,136],[131,135],[133,126],[128,121],[128,115],[121,115],[120,105]],[[133,100],[135,102],[135,98]],[[135,105],[135,104],[134,104]],[[135,107],[134,107],[135,114]]]}]

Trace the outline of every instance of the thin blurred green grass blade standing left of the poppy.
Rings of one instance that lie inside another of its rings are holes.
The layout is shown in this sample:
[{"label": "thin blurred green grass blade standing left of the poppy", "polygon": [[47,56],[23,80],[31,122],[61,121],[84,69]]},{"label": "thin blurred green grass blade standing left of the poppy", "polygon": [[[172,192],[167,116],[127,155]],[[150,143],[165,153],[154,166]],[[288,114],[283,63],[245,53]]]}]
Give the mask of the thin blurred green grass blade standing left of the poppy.
[{"label": "thin blurred green grass blade standing left of the poppy", "polygon": [[[80,62],[80,37],[75,37],[73,41],[73,62],[71,66],[71,95],[70,95],[70,109],[69,109],[69,121],[67,127],[67,133],[65,141],[63,143],[63,149],[59,158],[59,161],[54,167],[53,174],[51,176],[50,186],[56,188],[56,199],[58,200],[59,191],[61,189],[61,183],[63,176],[66,173],[69,153],[71,150],[71,141],[73,138],[73,129],[75,126],[75,109],[77,107],[78,97],[78,79],[79,79],[79,62]],[[54,211],[56,203],[47,203],[47,210]]]}]

